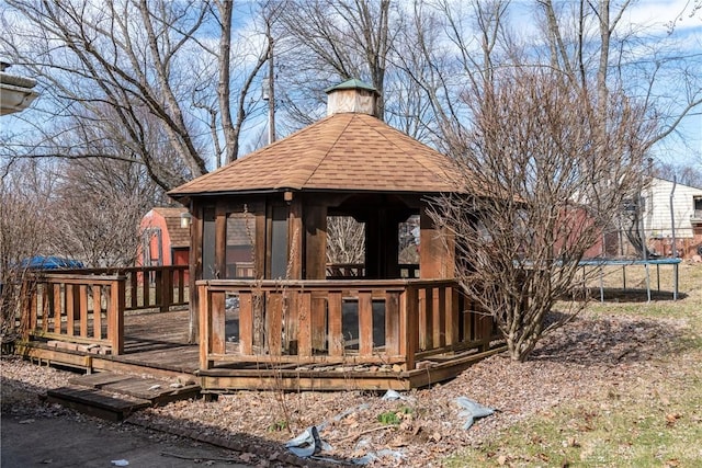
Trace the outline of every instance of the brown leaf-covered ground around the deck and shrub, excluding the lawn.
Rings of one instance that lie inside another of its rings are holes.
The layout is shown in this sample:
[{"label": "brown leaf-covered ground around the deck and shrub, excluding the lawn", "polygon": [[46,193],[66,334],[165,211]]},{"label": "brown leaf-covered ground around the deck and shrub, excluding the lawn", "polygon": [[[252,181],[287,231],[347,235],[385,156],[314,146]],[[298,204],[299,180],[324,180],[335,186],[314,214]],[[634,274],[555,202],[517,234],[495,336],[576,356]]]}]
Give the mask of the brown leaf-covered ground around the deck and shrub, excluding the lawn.
[{"label": "brown leaf-covered ground around the deck and shrub, excluding the lawn", "polygon": [[[291,465],[284,461],[288,454],[282,443],[317,426],[321,441],[329,444],[319,454],[327,459],[371,466],[441,466],[445,456],[465,446],[479,446],[531,414],[587,398],[603,386],[626,385],[649,375],[657,366],[653,357],[666,353],[683,327],[682,320],[623,316],[596,320],[584,313],[545,338],[526,363],[496,355],[449,383],[404,392],[400,399],[354,390],[240,391],[216,401],[197,399],[144,410],[121,427],[212,441],[235,448],[240,463],[269,467]],[[3,358],[3,418],[18,411],[76,418],[69,410],[39,403],[36,397],[64,385],[68,375]],[[458,397],[496,411],[466,430]]]}]

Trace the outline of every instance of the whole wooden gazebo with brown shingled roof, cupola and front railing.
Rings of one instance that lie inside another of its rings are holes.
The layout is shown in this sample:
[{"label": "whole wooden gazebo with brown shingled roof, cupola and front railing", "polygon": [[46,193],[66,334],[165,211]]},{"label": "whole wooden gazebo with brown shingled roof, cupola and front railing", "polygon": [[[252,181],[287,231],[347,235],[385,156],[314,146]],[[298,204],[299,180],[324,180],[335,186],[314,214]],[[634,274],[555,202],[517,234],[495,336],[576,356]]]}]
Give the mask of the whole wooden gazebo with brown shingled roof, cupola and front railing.
[{"label": "whole wooden gazebo with brown shingled roof, cupola and front railing", "polygon": [[[458,191],[450,160],[374,117],[374,88],[349,80],[326,92],[325,118],[169,193],[192,217],[204,387],[250,387],[236,370],[256,368],[258,386],[290,373],[284,387],[339,388],[353,370],[359,387],[407,388],[496,349],[491,319],[453,281],[451,238],[429,216],[433,196]],[[363,231],[359,264],[328,262],[339,216]],[[418,264],[400,261],[410,231]]]}]

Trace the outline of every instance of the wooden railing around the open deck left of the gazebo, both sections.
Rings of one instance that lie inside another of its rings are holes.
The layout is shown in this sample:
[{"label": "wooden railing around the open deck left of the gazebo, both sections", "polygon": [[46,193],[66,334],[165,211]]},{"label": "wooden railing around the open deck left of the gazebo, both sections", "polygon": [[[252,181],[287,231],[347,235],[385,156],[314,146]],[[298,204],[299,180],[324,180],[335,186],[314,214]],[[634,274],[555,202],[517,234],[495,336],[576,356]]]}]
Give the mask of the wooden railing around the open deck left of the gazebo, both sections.
[{"label": "wooden railing around the open deck left of the gazebo, both sections", "polygon": [[124,353],[124,312],[188,305],[186,265],[41,272],[22,285],[26,338]]}]

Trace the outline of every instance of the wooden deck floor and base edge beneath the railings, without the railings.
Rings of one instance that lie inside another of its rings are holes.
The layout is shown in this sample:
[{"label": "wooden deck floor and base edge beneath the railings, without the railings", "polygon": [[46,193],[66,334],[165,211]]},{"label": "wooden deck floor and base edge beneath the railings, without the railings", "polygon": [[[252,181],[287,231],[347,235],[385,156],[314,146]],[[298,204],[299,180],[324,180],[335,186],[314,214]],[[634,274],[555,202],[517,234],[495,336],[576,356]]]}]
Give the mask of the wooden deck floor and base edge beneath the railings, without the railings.
[{"label": "wooden deck floor and base edge beneath the railings, without the railings", "polygon": [[408,390],[446,380],[473,363],[496,352],[475,350],[434,356],[418,369],[400,370],[392,365],[328,365],[305,363],[240,362],[199,369],[200,349],[188,344],[188,311],[138,312],[124,319],[124,354],[103,355],[81,351],[57,340],[32,341],[19,352],[44,364],[77,367],[86,372],[116,372],[160,378],[191,376],[203,392],[238,389],[285,390]]}]

